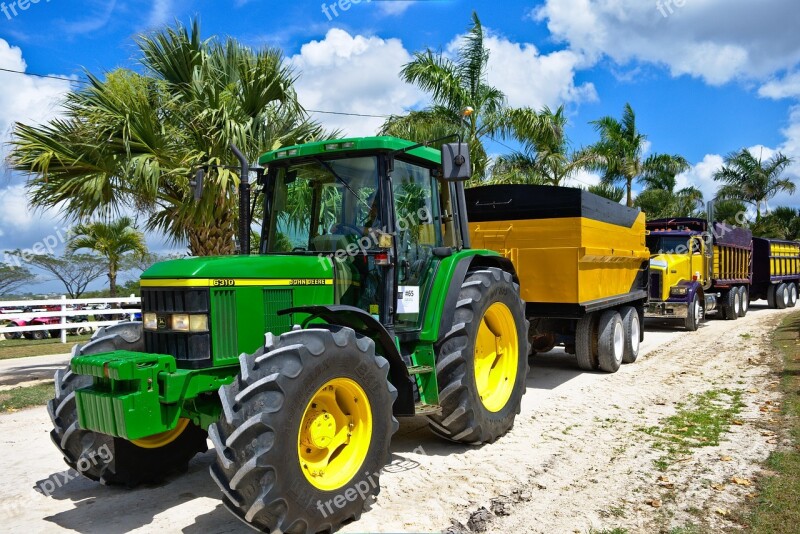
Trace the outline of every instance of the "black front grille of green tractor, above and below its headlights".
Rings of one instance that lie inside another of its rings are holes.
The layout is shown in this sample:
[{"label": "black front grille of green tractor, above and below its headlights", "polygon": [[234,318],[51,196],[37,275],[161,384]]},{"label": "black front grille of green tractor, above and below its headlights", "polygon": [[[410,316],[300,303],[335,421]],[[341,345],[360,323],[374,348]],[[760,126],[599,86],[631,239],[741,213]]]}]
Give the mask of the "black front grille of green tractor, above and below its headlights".
[{"label": "black front grille of green tractor, above and below its headlights", "polygon": [[[142,288],[142,313],[207,314],[208,299],[208,289]],[[212,365],[209,333],[145,330],[144,343],[149,353],[173,356],[180,368],[198,369]]]}]

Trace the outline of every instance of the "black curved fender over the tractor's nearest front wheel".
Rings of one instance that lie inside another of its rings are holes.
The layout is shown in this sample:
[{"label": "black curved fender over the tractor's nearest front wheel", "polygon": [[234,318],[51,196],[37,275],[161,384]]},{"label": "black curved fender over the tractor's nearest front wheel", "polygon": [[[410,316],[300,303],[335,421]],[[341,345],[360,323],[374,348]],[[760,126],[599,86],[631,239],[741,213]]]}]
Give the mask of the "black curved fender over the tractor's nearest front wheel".
[{"label": "black curved fender over the tractor's nearest front wheel", "polygon": [[298,306],[278,312],[278,315],[290,313],[307,313],[303,328],[314,319],[322,319],[328,324],[352,328],[362,336],[375,342],[377,352],[389,361],[389,376],[397,388],[397,400],[394,402],[395,415],[414,415],[414,387],[408,374],[408,366],[403,361],[394,338],[386,328],[372,315],[361,308],[344,305]]}]

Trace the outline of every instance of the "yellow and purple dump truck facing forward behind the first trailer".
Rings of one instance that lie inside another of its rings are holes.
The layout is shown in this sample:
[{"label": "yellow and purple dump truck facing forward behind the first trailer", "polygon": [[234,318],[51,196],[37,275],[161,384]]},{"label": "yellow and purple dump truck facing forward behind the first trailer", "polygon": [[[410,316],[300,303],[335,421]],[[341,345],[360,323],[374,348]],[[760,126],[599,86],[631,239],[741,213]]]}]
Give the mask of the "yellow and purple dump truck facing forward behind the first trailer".
[{"label": "yellow and purple dump truck facing forward behind the first trailer", "polygon": [[645,317],[680,319],[694,331],[708,312],[716,310],[728,320],[747,314],[753,272],[750,230],[690,217],[656,219],[647,229],[652,257]]}]

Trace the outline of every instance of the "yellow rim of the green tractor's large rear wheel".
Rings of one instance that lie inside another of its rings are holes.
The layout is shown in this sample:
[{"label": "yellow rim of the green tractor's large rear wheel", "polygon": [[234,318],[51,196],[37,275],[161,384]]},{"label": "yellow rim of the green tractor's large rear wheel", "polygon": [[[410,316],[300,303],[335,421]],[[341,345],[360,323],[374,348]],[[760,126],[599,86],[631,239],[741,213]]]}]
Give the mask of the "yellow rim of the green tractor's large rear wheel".
[{"label": "yellow rim of the green tractor's large rear wheel", "polygon": [[519,340],[508,306],[495,302],[481,318],[475,340],[475,385],[483,406],[499,412],[514,391]]}]

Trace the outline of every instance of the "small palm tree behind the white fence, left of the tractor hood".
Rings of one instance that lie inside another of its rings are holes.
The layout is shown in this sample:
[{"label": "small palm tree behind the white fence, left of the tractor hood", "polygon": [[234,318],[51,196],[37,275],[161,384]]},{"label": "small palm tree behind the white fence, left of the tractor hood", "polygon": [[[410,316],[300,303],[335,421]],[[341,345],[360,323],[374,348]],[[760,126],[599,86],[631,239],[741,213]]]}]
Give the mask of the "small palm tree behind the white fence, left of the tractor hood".
[{"label": "small palm tree behind the white fence, left of the tractor hood", "polygon": [[106,261],[112,298],[117,296],[117,275],[126,255],[139,257],[147,255],[144,234],[134,227],[130,217],[73,227],[67,250],[76,252],[81,249],[97,252]]}]

